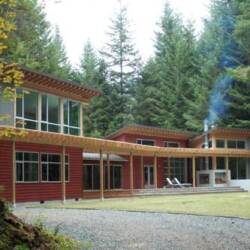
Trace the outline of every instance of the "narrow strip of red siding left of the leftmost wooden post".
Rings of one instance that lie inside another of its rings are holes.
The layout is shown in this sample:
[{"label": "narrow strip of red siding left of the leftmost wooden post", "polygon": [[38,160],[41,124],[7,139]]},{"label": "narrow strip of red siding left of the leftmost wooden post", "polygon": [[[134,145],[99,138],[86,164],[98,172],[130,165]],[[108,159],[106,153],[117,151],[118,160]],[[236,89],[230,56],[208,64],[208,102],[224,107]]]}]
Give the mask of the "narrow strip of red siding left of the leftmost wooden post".
[{"label": "narrow strip of red siding left of the leftmost wooden post", "polygon": [[4,188],[3,196],[12,199],[12,142],[0,140],[0,186]]}]

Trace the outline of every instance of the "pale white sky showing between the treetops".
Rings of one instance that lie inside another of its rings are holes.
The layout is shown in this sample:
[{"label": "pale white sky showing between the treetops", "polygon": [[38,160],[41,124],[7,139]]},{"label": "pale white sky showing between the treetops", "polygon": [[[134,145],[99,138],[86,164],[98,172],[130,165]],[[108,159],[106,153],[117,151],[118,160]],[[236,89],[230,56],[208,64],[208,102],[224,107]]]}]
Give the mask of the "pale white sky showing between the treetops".
[{"label": "pale white sky showing between the treetops", "polygon": [[[45,0],[47,19],[59,27],[67,55],[75,66],[79,63],[84,42],[90,39],[99,50],[107,41],[106,32],[117,0]],[[59,3],[57,3],[59,2]],[[164,9],[165,0],[123,0],[128,7],[135,44],[144,60],[153,52],[154,32]],[[194,21],[197,34],[208,16],[210,0],[169,0],[172,8],[185,20]]]}]

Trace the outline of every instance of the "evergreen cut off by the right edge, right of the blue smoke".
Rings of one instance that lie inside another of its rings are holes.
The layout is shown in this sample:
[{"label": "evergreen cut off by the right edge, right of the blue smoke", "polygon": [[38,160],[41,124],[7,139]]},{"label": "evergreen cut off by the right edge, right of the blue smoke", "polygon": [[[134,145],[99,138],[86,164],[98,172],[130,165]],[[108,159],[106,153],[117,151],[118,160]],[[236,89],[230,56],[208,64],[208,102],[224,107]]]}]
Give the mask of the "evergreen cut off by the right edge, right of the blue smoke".
[{"label": "evergreen cut off by the right edge, right of the blue smoke", "polygon": [[231,70],[236,79],[228,91],[229,110],[224,123],[230,127],[250,128],[250,1],[237,1],[234,37],[239,44],[241,64]]}]

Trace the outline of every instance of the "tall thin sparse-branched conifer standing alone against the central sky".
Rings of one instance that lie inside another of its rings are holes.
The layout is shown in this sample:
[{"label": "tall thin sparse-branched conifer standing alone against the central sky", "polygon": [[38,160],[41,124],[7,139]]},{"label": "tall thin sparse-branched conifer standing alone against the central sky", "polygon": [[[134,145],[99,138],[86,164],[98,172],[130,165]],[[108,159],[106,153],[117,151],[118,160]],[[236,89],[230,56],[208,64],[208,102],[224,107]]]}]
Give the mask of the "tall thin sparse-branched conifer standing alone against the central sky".
[{"label": "tall thin sparse-branched conifer standing alone against the central sky", "polygon": [[109,42],[102,51],[102,56],[108,65],[108,77],[112,85],[110,95],[113,119],[109,130],[113,131],[134,120],[133,96],[139,78],[140,59],[131,39],[127,8],[122,6],[121,1],[111,22]]}]

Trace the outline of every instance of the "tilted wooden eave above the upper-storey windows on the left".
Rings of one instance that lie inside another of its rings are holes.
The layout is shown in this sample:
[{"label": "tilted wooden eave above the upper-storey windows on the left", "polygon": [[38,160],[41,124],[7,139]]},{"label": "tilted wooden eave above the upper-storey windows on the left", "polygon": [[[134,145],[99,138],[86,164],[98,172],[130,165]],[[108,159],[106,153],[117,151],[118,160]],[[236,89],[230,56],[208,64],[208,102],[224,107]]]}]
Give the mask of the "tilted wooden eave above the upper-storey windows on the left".
[{"label": "tilted wooden eave above the upper-storey windows on the left", "polygon": [[32,90],[77,100],[83,103],[87,103],[92,97],[100,95],[100,92],[97,90],[71,81],[62,80],[25,67],[20,67],[20,70],[24,73],[22,86]]}]

